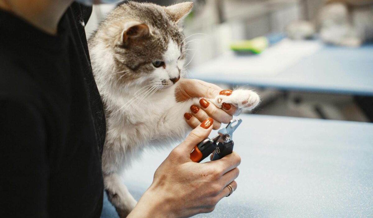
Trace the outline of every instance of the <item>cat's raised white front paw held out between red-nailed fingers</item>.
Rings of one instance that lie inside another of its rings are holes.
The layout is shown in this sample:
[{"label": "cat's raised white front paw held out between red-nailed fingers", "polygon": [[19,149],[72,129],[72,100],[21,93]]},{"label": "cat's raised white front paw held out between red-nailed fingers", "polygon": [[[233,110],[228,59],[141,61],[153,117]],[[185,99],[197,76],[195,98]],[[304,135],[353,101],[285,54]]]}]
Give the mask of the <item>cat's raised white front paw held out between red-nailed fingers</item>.
[{"label": "cat's raised white front paw held out between red-nailed fingers", "polygon": [[214,104],[221,107],[223,103],[232,104],[238,109],[253,110],[260,103],[260,97],[252,90],[237,89],[230,95],[219,95],[214,99]]}]

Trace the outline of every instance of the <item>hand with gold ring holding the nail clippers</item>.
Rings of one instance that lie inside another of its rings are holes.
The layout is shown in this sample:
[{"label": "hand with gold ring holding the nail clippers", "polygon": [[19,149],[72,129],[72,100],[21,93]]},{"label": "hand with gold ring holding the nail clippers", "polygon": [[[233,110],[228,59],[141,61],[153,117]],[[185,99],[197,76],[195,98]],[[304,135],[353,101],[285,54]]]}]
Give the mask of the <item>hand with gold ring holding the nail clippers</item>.
[{"label": "hand with gold ring holding the nail clippers", "polygon": [[208,213],[236,190],[241,159],[233,152],[220,160],[195,163],[190,153],[209,136],[213,120],[206,119],[174,148],[154,174],[153,183],[128,217],[190,217]]}]

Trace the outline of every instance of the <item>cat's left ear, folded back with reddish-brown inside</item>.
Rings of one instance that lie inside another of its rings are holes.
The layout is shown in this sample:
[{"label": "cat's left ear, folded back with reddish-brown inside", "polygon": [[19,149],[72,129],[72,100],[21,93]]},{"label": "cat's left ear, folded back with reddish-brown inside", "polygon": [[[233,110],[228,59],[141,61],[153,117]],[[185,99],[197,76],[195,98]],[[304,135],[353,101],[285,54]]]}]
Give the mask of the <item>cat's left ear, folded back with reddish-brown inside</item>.
[{"label": "cat's left ear, folded back with reddish-brown inside", "polygon": [[149,27],[146,24],[140,22],[129,22],[122,34],[123,44],[128,44],[131,39],[141,39],[147,37],[150,34]]}]

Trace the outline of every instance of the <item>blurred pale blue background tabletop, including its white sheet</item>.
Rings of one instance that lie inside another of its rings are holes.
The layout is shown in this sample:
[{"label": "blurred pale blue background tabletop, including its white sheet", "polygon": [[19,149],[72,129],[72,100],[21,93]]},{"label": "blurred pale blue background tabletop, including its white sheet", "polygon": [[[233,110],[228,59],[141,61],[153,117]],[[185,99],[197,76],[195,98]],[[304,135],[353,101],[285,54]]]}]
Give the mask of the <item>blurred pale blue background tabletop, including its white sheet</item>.
[{"label": "blurred pale blue background tabletop, including its white sheet", "polygon": [[[296,42],[294,46],[297,46]],[[302,46],[305,45],[300,44],[298,48]],[[317,52],[285,66],[282,61],[291,55],[291,49],[282,49],[282,55],[276,52],[272,56],[278,59],[272,57],[269,61],[261,59],[260,55],[235,56],[230,53],[195,67],[189,77],[231,85],[373,96],[373,44],[360,48],[322,45]],[[261,55],[271,56],[268,55],[270,51]],[[253,59],[267,70],[254,66]],[[280,69],[275,72],[277,68]]]}]

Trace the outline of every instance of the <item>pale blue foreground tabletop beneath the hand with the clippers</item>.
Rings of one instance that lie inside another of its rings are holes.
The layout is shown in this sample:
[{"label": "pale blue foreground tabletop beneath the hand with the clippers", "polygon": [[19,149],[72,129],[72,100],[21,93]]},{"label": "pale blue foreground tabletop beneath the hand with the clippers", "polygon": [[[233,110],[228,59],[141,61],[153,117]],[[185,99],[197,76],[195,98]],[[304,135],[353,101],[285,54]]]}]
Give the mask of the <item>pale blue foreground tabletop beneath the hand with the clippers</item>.
[{"label": "pale blue foreground tabletop beneath the hand with the clippers", "polygon": [[[373,124],[241,115],[237,190],[195,217],[373,217]],[[211,134],[213,136],[215,134]],[[135,199],[170,150],[147,151],[124,179]],[[103,218],[117,217],[105,199]]]}]

